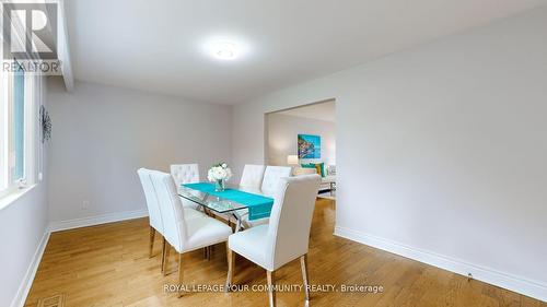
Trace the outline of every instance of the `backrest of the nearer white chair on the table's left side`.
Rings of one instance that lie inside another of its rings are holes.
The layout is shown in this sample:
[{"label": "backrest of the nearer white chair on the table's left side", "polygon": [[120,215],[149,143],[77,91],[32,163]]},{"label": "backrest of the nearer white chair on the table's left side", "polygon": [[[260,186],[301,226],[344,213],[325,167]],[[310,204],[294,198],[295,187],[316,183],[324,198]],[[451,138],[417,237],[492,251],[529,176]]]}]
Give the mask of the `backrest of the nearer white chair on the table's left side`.
[{"label": "backrest of the nearer white chair on the table's left side", "polygon": [[175,182],[170,174],[162,172],[153,172],[151,178],[160,203],[163,237],[181,251],[186,243],[186,222]]}]

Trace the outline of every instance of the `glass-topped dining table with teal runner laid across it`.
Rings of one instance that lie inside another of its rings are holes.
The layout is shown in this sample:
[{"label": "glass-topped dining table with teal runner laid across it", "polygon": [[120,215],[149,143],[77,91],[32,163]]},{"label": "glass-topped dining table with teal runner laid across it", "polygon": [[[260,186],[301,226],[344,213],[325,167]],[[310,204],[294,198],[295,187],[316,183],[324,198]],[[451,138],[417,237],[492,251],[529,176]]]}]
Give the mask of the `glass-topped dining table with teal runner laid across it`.
[{"label": "glass-topped dining table with teal runner laid across it", "polygon": [[271,194],[260,189],[226,185],[223,191],[216,190],[211,182],[182,184],[178,196],[199,205],[205,212],[212,211],[233,217],[235,232],[248,228],[247,221],[267,219],[274,205]]}]

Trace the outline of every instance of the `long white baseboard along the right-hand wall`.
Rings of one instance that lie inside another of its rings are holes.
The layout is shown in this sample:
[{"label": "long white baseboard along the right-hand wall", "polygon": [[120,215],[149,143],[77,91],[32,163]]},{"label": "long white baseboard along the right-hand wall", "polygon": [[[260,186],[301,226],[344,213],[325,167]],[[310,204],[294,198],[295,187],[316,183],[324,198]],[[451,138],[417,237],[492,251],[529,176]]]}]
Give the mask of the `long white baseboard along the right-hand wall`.
[{"label": "long white baseboard along the right-hand wall", "polygon": [[516,276],[482,265],[468,263],[459,259],[439,255],[429,250],[414,248],[411,246],[368,235],[346,227],[336,226],[335,235],[382,250],[386,250],[406,258],[410,258],[426,264],[441,268],[464,276],[467,276],[470,273],[473,275],[473,279],[475,280],[547,302],[547,285],[537,281],[531,281],[522,276]]}]

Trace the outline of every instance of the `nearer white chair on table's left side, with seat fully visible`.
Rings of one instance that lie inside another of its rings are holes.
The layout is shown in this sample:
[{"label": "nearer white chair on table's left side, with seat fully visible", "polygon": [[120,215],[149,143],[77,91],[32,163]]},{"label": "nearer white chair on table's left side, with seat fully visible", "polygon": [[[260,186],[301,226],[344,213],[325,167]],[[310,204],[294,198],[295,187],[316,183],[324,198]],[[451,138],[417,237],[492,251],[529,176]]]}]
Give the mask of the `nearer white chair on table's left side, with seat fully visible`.
[{"label": "nearer white chair on table's left side, with seat fully visible", "polygon": [[[232,234],[226,224],[201,215],[194,219],[185,216],[185,210],[170,174],[154,172],[152,184],[158,193],[164,226],[164,238],[178,252],[178,283],[183,283],[183,253],[223,243]],[[163,273],[167,273],[168,252],[164,252]],[[179,293],[179,297],[183,293]]]}]

